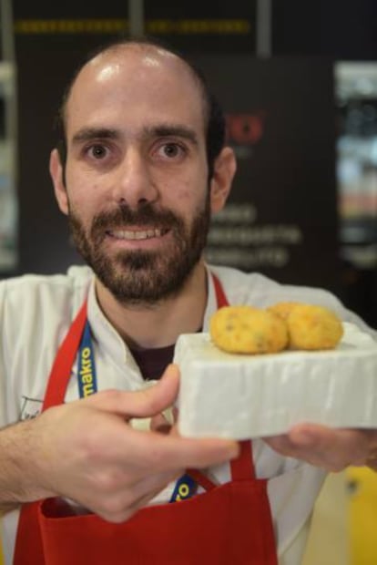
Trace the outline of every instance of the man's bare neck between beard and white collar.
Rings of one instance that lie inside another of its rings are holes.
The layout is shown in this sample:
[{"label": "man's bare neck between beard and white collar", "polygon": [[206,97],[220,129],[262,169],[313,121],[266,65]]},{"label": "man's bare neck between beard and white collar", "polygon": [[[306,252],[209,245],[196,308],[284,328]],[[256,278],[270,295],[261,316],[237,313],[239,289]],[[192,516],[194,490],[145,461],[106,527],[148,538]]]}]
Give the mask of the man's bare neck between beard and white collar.
[{"label": "man's bare neck between beard and white collar", "polygon": [[179,334],[191,334],[203,324],[207,305],[207,273],[203,262],[191,272],[177,295],[153,305],[123,305],[96,280],[97,301],[108,321],[131,347],[175,344]]}]

